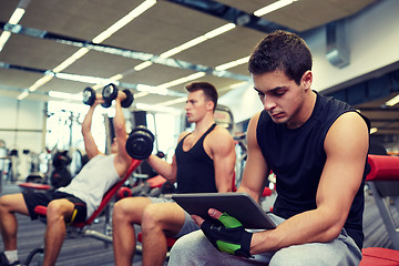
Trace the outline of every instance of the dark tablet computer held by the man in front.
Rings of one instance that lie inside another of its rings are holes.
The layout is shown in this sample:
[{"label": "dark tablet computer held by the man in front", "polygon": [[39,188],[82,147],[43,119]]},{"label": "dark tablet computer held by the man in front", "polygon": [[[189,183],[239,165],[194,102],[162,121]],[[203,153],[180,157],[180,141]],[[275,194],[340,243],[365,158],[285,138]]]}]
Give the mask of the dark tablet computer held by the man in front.
[{"label": "dark tablet computer held by the man in front", "polygon": [[273,229],[276,224],[254,198],[246,193],[173,194],[172,198],[188,214],[211,218],[209,208],[216,208],[237,218],[248,229]]}]

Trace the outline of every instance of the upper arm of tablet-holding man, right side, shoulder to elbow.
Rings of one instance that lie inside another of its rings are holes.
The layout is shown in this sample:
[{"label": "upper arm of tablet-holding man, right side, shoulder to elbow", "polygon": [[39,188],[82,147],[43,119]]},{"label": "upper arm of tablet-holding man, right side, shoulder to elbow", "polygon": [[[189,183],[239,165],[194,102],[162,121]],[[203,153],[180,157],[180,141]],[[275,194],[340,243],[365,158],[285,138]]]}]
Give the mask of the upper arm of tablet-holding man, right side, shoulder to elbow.
[{"label": "upper arm of tablet-holding man, right side, shoulder to elbow", "polygon": [[354,112],[342,114],[327,133],[327,155],[321,174],[317,205],[341,213],[345,222],[364,176],[368,151],[368,127]]}]

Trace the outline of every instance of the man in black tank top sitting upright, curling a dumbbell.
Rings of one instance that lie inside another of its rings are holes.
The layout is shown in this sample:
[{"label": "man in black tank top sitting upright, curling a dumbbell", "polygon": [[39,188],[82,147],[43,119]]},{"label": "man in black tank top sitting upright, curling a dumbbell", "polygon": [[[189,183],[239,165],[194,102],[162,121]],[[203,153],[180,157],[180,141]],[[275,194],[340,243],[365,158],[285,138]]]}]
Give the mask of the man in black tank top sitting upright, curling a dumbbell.
[{"label": "man in black tank top sitting upright, curling a dumbbell", "polygon": [[[186,86],[186,116],[195,124],[184,132],[172,164],[151,155],[149,164],[168,182],[177,184],[177,193],[231,192],[234,178],[235,146],[226,129],[215,124],[216,89],[206,82]],[[141,224],[143,265],[163,265],[166,236],[182,236],[200,227],[172,200],[129,197],[113,208],[113,246],[115,265],[132,265],[135,250],[133,224]]]}]

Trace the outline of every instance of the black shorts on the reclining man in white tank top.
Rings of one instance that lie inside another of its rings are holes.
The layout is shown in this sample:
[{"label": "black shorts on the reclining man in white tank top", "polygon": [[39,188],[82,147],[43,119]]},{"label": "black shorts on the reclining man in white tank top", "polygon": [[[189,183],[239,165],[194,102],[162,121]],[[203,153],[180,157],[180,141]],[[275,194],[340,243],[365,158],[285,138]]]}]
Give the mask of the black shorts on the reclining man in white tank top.
[{"label": "black shorts on the reclining man in white tank top", "polygon": [[[48,191],[48,192],[28,192],[23,193],[23,198],[25,201],[29,216],[31,219],[37,219],[39,215],[34,213],[35,206],[47,206],[53,200],[65,198],[74,204],[75,215],[73,222],[84,223],[86,221],[88,208],[84,202],[79,197],[75,197],[71,194],[58,191]],[[70,221],[66,221],[68,223]]]}]

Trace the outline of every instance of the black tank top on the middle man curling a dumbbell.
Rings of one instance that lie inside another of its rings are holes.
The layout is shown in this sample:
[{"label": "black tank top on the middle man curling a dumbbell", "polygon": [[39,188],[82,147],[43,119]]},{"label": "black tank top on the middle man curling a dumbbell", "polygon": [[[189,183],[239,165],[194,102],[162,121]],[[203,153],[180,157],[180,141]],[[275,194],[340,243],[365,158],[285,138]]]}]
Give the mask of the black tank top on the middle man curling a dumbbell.
[{"label": "black tank top on the middle man curling a dumbbell", "polygon": [[216,124],[213,124],[187,152],[183,151],[183,137],[176,146],[177,193],[217,192],[213,160],[204,150],[204,140]]}]

